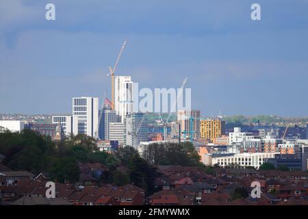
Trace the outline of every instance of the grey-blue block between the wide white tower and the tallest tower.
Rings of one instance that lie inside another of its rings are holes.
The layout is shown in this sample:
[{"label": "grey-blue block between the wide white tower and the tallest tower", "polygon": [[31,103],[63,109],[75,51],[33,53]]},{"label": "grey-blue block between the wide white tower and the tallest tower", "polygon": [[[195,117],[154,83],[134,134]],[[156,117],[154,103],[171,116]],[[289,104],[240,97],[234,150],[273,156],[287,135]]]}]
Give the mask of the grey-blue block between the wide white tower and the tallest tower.
[{"label": "grey-blue block between the wide white tower and the tallest tower", "polygon": [[110,123],[118,122],[120,122],[120,116],[116,114],[116,110],[103,109],[99,138],[101,140],[110,140]]}]

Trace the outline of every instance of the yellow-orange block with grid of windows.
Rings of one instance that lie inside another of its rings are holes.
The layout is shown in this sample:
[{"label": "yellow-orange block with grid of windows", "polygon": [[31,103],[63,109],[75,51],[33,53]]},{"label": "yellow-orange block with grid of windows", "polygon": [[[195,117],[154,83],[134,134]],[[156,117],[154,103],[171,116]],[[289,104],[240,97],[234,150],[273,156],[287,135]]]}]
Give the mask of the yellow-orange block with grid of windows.
[{"label": "yellow-orange block with grid of windows", "polygon": [[225,122],[220,118],[203,118],[200,120],[200,138],[214,142],[224,134]]}]

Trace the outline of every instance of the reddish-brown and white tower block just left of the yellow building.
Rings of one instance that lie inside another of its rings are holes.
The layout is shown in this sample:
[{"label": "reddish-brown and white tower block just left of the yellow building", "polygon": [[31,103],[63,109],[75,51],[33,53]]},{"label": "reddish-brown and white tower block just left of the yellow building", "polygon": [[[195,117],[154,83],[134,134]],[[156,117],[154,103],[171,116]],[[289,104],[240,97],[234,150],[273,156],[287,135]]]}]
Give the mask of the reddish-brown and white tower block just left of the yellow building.
[{"label": "reddish-brown and white tower block just left of the yellow building", "polygon": [[[181,127],[181,136],[191,136],[194,140],[200,138],[200,110],[179,110],[177,121]],[[190,127],[192,123],[192,127]],[[190,133],[190,132],[193,133]]]}]

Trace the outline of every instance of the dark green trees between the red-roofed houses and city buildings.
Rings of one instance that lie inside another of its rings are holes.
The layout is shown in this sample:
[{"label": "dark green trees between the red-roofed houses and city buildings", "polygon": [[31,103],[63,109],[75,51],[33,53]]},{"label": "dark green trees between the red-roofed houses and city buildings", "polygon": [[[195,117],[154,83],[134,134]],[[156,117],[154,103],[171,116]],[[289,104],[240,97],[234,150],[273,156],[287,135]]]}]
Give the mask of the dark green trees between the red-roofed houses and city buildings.
[{"label": "dark green trees between the red-roofed houses and city buildings", "polygon": [[[155,155],[155,165],[202,166],[190,143],[154,144],[150,149]],[[79,181],[79,162],[100,163],[110,171],[92,176],[97,178],[98,184],[133,183],[148,194],[154,191],[155,166],[142,159],[135,149],[126,146],[114,154],[101,152],[89,136],[74,136],[56,145],[50,137],[31,130],[25,129],[21,133],[3,131],[0,133],[0,154],[5,155],[3,164],[12,170],[27,170],[34,175],[43,172],[51,180],[61,183]]]}]

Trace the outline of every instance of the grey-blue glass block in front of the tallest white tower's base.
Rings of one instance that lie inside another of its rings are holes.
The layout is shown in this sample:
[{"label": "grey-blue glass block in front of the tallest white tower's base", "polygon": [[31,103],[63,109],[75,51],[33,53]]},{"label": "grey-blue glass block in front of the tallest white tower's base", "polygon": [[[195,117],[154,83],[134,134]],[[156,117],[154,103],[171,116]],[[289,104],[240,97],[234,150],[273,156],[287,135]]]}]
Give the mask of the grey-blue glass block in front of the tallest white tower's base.
[{"label": "grey-blue glass block in front of the tallest white tower's base", "polygon": [[[134,113],[125,116],[125,146],[138,146],[140,142],[148,141],[148,122],[142,113]],[[139,130],[138,130],[139,129]]]}]

